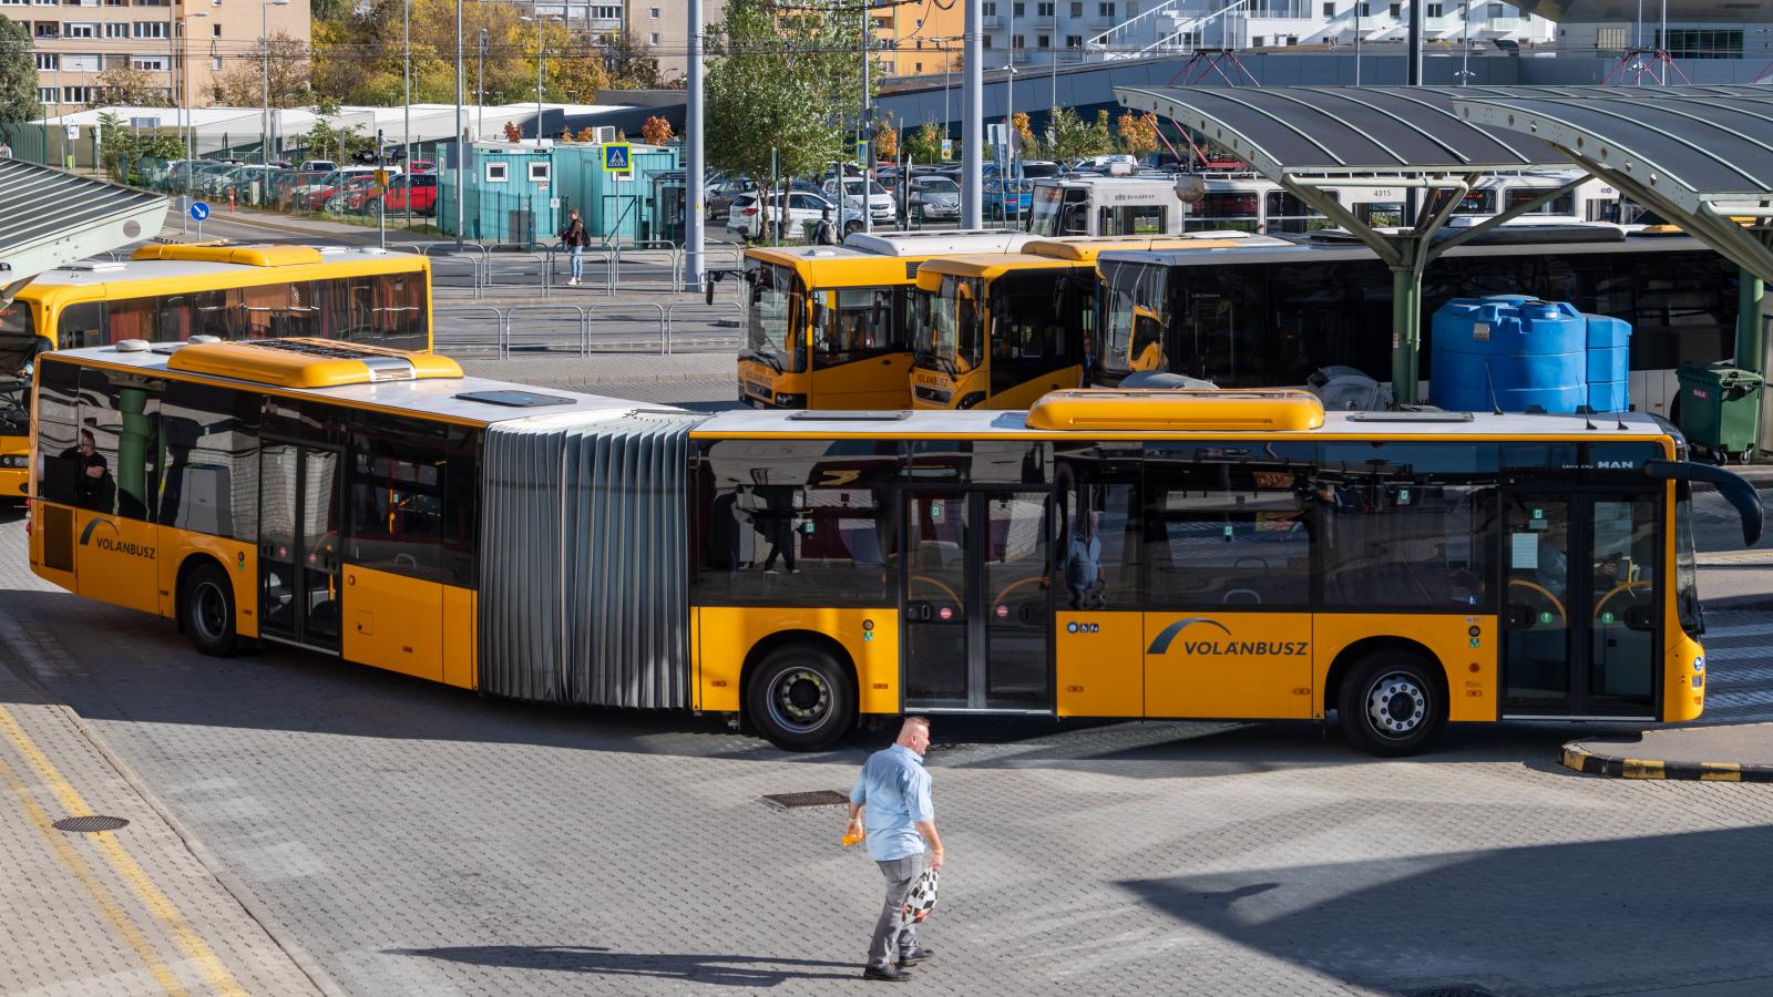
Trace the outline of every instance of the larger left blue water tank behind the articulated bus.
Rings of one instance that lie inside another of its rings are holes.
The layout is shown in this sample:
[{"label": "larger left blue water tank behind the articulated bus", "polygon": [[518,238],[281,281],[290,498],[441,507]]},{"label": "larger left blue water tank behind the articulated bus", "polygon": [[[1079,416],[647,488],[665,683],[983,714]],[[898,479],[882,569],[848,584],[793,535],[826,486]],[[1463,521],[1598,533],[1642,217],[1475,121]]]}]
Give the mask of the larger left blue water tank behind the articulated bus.
[{"label": "larger left blue water tank behind the articulated bus", "polygon": [[1589,404],[1589,323],[1525,294],[1454,298],[1434,312],[1429,399],[1452,412]]}]

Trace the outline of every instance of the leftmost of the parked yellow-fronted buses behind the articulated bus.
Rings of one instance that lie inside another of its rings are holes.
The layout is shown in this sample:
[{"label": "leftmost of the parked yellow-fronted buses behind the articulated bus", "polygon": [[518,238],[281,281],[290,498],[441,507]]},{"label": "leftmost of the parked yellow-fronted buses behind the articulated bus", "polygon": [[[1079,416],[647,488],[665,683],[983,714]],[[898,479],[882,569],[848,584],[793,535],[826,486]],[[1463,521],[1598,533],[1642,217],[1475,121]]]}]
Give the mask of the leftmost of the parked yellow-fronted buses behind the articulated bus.
[{"label": "leftmost of the parked yellow-fronted buses behind the articulated bus", "polygon": [[918,266],[947,254],[1012,250],[1028,238],[1009,229],[856,232],[842,247],[745,250],[739,401],[908,408]]}]

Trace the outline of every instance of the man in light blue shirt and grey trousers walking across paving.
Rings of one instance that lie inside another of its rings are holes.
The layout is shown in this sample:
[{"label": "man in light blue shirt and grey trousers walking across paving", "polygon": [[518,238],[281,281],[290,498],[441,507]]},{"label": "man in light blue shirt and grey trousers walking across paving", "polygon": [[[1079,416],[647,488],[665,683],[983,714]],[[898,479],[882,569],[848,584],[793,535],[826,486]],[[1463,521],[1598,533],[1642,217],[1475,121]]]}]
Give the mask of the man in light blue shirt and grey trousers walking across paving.
[{"label": "man in light blue shirt and grey trousers walking across paving", "polygon": [[910,979],[904,969],[934,954],[917,944],[917,926],[904,912],[911,885],[924,875],[926,846],[931,867],[941,867],[941,836],[936,834],[929,772],[924,770],[926,750],[929,750],[929,720],[906,717],[899,727],[899,740],[869,756],[856,788],[849,791],[847,832],[853,836],[867,830],[869,859],[874,859],[886,876],[886,905],[874,924],[863,979],[888,983]]}]

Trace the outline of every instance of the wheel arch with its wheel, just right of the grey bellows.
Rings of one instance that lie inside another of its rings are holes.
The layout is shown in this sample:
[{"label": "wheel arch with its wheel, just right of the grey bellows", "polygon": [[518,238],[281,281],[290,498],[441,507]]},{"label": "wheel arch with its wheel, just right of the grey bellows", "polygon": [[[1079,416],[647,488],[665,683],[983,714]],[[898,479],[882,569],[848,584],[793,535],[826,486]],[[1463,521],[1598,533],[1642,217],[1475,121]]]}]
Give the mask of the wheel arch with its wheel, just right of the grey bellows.
[{"label": "wheel arch with its wheel, just right of the grey bellows", "polygon": [[759,640],[739,672],[750,726],[789,750],[828,747],[856,724],[856,665],[842,644],[810,630]]}]

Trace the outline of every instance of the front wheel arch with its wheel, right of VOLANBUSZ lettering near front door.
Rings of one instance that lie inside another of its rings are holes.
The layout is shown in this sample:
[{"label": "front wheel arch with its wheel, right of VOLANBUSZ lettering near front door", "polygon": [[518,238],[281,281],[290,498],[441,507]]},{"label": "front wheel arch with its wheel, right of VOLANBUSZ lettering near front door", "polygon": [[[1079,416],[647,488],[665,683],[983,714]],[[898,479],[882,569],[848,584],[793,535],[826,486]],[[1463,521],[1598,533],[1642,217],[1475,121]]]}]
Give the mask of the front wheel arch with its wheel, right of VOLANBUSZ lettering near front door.
[{"label": "front wheel arch with its wheel, right of VOLANBUSZ lettering near front door", "polygon": [[1381,758],[1422,750],[1447,726],[1447,669],[1424,644],[1369,637],[1344,648],[1324,681],[1349,743]]}]

